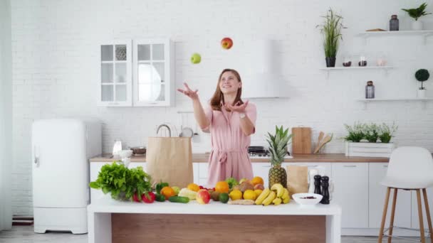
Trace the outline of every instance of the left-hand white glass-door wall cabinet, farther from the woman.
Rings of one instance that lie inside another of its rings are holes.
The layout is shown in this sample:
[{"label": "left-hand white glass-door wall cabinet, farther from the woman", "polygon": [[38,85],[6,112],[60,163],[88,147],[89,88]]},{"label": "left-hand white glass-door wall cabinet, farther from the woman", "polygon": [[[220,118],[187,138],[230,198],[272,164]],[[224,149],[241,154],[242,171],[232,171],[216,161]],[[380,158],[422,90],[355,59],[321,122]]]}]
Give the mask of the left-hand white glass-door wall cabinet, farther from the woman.
[{"label": "left-hand white glass-door wall cabinet, farther from the woman", "polygon": [[99,48],[98,106],[132,105],[131,40],[110,41]]}]

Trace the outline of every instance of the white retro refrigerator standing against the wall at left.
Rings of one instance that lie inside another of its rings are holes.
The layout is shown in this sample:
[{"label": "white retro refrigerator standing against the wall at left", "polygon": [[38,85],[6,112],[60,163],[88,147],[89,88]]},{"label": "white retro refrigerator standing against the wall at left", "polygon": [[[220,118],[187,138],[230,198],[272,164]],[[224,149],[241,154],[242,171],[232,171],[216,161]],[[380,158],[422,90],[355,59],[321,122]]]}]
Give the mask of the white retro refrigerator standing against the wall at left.
[{"label": "white retro refrigerator standing against the wall at left", "polygon": [[32,126],[34,232],[85,234],[89,158],[102,152],[95,119],[43,119]]}]

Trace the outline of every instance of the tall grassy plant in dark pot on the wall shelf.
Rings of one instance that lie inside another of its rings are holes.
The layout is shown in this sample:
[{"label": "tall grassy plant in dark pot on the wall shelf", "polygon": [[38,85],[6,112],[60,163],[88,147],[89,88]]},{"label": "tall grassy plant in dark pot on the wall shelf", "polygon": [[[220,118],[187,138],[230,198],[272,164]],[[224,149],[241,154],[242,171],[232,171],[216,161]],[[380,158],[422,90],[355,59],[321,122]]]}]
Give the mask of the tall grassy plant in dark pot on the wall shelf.
[{"label": "tall grassy plant in dark pot on the wall shelf", "polygon": [[322,25],[319,25],[320,32],[323,34],[323,49],[325,50],[326,67],[335,67],[335,57],[337,56],[338,45],[340,40],[343,40],[341,34],[341,23],[343,17],[338,16],[332,9],[329,9],[328,14],[323,16],[325,20]]}]

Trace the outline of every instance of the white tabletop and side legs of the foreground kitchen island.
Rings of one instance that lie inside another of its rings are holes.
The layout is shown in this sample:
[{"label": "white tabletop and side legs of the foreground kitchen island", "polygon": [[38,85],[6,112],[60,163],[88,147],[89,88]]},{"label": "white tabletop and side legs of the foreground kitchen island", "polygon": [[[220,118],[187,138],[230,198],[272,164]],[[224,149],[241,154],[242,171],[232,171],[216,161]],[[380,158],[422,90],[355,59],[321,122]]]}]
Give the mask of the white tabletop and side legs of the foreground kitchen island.
[{"label": "white tabletop and side legs of the foreground kitchen island", "polygon": [[89,243],[111,243],[111,214],[184,214],[184,215],[313,215],[325,216],[327,243],[340,243],[341,208],[339,205],[301,206],[293,200],[286,205],[227,205],[211,201],[200,205],[195,200],[187,204],[172,202],[119,202],[104,195],[88,205]]}]

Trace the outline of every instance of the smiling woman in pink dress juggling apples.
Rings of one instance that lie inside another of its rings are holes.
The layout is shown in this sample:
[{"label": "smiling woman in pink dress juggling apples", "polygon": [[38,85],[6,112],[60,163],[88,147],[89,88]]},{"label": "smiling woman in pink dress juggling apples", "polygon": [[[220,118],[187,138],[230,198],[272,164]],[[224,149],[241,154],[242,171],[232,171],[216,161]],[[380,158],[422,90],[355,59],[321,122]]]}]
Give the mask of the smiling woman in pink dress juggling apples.
[{"label": "smiling woman in pink dress juggling apples", "polygon": [[178,89],[192,99],[194,117],[203,131],[211,133],[212,151],[209,156],[208,185],[234,177],[253,178],[248,156],[250,135],[255,132],[256,106],[241,99],[242,82],[239,73],[224,69],[219,75],[210,106],[205,110],[197,91],[185,83]]}]

